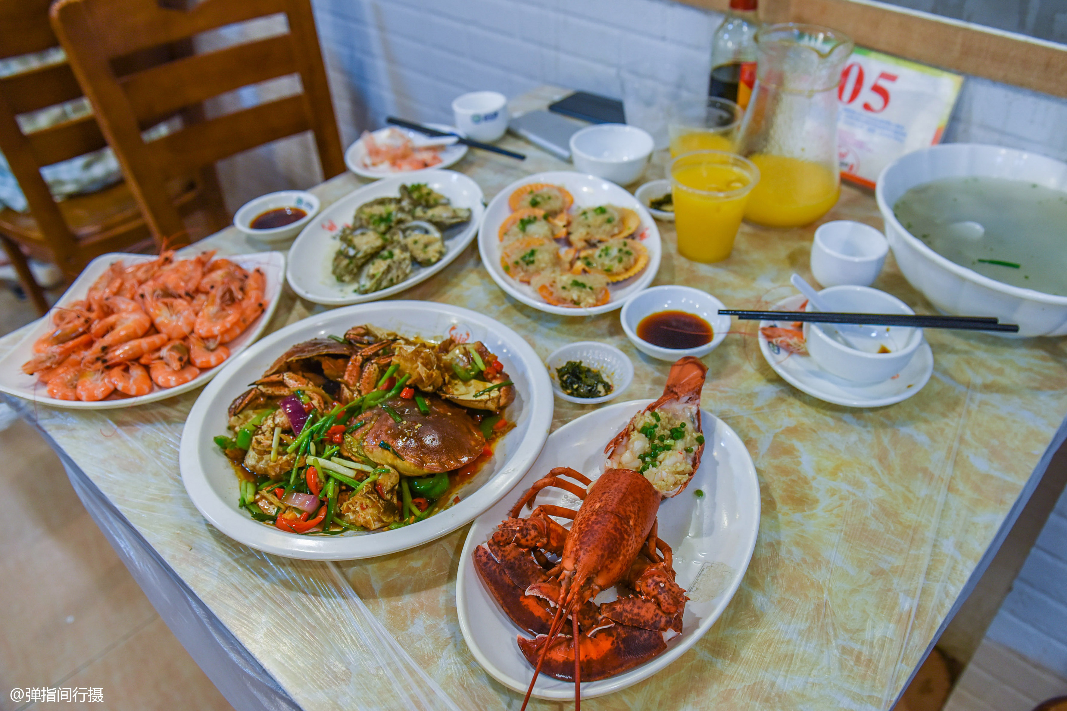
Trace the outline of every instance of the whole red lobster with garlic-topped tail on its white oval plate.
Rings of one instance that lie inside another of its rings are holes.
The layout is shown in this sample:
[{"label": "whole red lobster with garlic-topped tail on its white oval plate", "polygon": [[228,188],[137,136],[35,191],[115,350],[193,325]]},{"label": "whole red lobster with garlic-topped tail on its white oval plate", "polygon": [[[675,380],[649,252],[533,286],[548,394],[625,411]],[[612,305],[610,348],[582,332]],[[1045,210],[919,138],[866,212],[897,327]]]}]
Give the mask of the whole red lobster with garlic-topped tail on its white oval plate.
[{"label": "whole red lobster with garlic-topped tail on its white oval plate", "polygon": [[760,485],[740,437],[700,407],[705,372],[682,358],[658,400],[563,425],[475,519],[456,607],[500,683],[554,700],[620,691],[685,653],[729,604],[755,547]]}]

